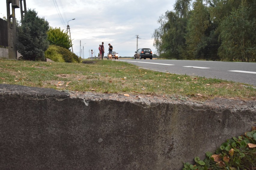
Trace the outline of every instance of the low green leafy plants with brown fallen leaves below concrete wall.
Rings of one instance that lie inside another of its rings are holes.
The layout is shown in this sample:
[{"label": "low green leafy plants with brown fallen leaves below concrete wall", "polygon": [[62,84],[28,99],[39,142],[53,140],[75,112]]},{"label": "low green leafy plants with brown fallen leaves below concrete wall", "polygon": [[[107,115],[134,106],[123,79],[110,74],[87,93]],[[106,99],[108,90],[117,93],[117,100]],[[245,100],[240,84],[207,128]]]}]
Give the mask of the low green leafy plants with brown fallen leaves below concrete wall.
[{"label": "low green leafy plants with brown fallen leaves below concrete wall", "polygon": [[215,154],[206,152],[206,158],[195,157],[195,165],[184,163],[183,170],[208,169],[255,169],[256,168],[256,127],[244,136],[227,139]]}]

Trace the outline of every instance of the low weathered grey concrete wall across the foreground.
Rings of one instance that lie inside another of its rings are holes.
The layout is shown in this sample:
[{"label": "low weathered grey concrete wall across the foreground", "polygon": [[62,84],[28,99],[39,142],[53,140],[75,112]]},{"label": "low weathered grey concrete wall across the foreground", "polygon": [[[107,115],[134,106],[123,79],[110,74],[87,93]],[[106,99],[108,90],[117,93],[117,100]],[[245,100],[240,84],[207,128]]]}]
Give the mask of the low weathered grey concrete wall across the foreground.
[{"label": "low weathered grey concrete wall across the foreground", "polygon": [[0,84],[0,169],[178,170],[250,130],[255,105]]}]

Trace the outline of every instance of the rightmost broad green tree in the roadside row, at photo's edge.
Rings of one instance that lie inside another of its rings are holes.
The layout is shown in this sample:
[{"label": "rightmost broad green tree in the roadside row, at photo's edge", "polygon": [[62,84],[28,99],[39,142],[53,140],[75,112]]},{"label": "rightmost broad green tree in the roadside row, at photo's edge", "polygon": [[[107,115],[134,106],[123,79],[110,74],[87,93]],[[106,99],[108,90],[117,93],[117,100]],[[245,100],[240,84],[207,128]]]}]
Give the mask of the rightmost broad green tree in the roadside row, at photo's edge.
[{"label": "rightmost broad green tree in the roadside row, at photo's edge", "polygon": [[222,60],[255,62],[256,20],[250,20],[248,5],[233,9],[219,27],[221,46],[218,54]]}]

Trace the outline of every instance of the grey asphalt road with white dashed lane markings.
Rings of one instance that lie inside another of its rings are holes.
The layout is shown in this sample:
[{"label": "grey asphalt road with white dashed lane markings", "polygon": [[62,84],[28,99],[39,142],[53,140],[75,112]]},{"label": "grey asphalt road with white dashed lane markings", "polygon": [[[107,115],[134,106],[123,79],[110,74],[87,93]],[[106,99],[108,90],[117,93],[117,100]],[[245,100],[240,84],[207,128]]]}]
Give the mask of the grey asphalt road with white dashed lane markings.
[{"label": "grey asphalt road with white dashed lane markings", "polygon": [[119,61],[125,61],[145,69],[206,78],[217,78],[250,84],[256,87],[256,63],[139,59],[121,59]]}]

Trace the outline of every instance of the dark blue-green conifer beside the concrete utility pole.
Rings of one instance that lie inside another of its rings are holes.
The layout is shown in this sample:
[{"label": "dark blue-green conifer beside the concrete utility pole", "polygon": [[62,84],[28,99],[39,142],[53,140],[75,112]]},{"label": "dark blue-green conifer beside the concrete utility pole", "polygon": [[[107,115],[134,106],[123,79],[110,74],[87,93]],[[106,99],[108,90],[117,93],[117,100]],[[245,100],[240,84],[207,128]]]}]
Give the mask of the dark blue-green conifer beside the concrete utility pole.
[{"label": "dark blue-green conifer beside the concrete utility pole", "polygon": [[37,16],[35,10],[29,9],[22,24],[17,29],[17,50],[25,60],[45,60],[44,51],[49,42],[47,31],[49,23]]}]

